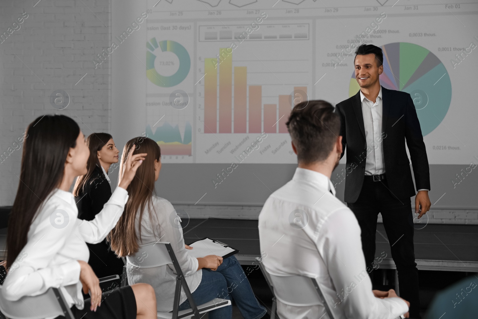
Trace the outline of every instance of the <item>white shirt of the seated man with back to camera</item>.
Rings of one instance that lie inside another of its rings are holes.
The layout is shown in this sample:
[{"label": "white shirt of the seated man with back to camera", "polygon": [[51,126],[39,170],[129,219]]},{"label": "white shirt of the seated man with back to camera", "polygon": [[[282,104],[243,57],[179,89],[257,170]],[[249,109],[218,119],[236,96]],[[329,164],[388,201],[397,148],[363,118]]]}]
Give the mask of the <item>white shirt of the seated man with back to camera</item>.
[{"label": "white shirt of the seated man with back to camera", "polygon": [[[306,225],[297,227],[297,213],[302,224],[308,219]],[[373,295],[359,223],[321,173],[297,168],[292,180],[269,196],[259,215],[259,238],[266,270],[316,278],[337,319],[394,319],[408,311],[400,298]],[[317,319],[325,308],[277,301],[277,311],[284,319]]]}]

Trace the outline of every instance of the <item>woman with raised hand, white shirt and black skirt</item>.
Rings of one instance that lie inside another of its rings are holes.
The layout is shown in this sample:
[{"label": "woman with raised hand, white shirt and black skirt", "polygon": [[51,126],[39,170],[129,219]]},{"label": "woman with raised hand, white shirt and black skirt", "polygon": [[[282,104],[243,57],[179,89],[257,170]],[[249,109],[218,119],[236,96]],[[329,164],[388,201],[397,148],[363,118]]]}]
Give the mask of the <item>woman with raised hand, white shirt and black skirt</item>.
[{"label": "woman with raised hand, white shirt and black skirt", "polygon": [[[94,220],[79,220],[69,189],[76,176],[87,173],[89,150],[78,124],[64,115],[44,115],[30,123],[27,132],[8,225],[9,273],[3,297],[19,300],[57,287],[76,319],[156,318],[149,310],[156,307],[152,286],[116,288],[101,302],[106,295],[87,264],[86,242],[101,242],[120,219],[128,200],[126,188],[146,154],[133,155],[131,150],[105,207]],[[89,300],[83,300],[82,289],[89,290]]]}]

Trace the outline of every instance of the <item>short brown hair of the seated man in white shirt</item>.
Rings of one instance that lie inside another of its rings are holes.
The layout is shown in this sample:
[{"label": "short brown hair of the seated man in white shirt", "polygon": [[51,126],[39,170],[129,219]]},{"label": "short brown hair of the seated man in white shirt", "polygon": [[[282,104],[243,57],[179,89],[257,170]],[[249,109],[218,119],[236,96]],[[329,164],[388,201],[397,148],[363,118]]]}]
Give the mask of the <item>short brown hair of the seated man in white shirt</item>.
[{"label": "short brown hair of the seated man in white shirt", "polygon": [[285,125],[297,149],[297,161],[304,164],[325,160],[340,133],[340,119],[324,100],[298,103]]}]

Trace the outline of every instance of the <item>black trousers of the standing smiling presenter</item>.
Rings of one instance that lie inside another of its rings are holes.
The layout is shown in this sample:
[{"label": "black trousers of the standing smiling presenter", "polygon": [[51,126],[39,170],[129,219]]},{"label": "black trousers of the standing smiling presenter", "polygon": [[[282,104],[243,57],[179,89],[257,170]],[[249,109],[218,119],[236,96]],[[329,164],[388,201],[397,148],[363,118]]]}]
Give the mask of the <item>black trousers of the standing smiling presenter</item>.
[{"label": "black trousers of the standing smiling presenter", "polygon": [[[420,318],[410,198],[397,199],[393,196],[386,179],[376,182],[364,180],[359,198],[355,203],[347,203],[347,206],[359,221],[365,263],[370,268],[373,268],[375,258],[377,217],[381,213],[391,246],[391,256],[397,266],[400,297],[410,302],[410,318]],[[369,275],[373,282],[373,271]]]}]

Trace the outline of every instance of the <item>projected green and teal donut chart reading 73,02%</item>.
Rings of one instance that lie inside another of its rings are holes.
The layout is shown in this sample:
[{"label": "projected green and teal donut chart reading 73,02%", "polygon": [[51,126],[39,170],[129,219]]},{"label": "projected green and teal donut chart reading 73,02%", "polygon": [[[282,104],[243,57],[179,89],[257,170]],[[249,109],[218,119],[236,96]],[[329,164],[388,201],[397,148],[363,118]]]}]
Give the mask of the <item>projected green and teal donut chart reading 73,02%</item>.
[{"label": "projected green and teal donut chart reading 73,02%", "polygon": [[[158,87],[170,88],[178,85],[187,77],[191,68],[191,59],[183,45],[171,40],[163,40],[158,43],[156,38],[152,38],[146,43],[146,48],[148,48],[148,51],[146,51],[146,77],[152,83]],[[163,76],[156,70],[154,67],[156,55],[153,54],[156,49],[174,53],[178,57],[179,67],[176,73],[171,76]]]}]

